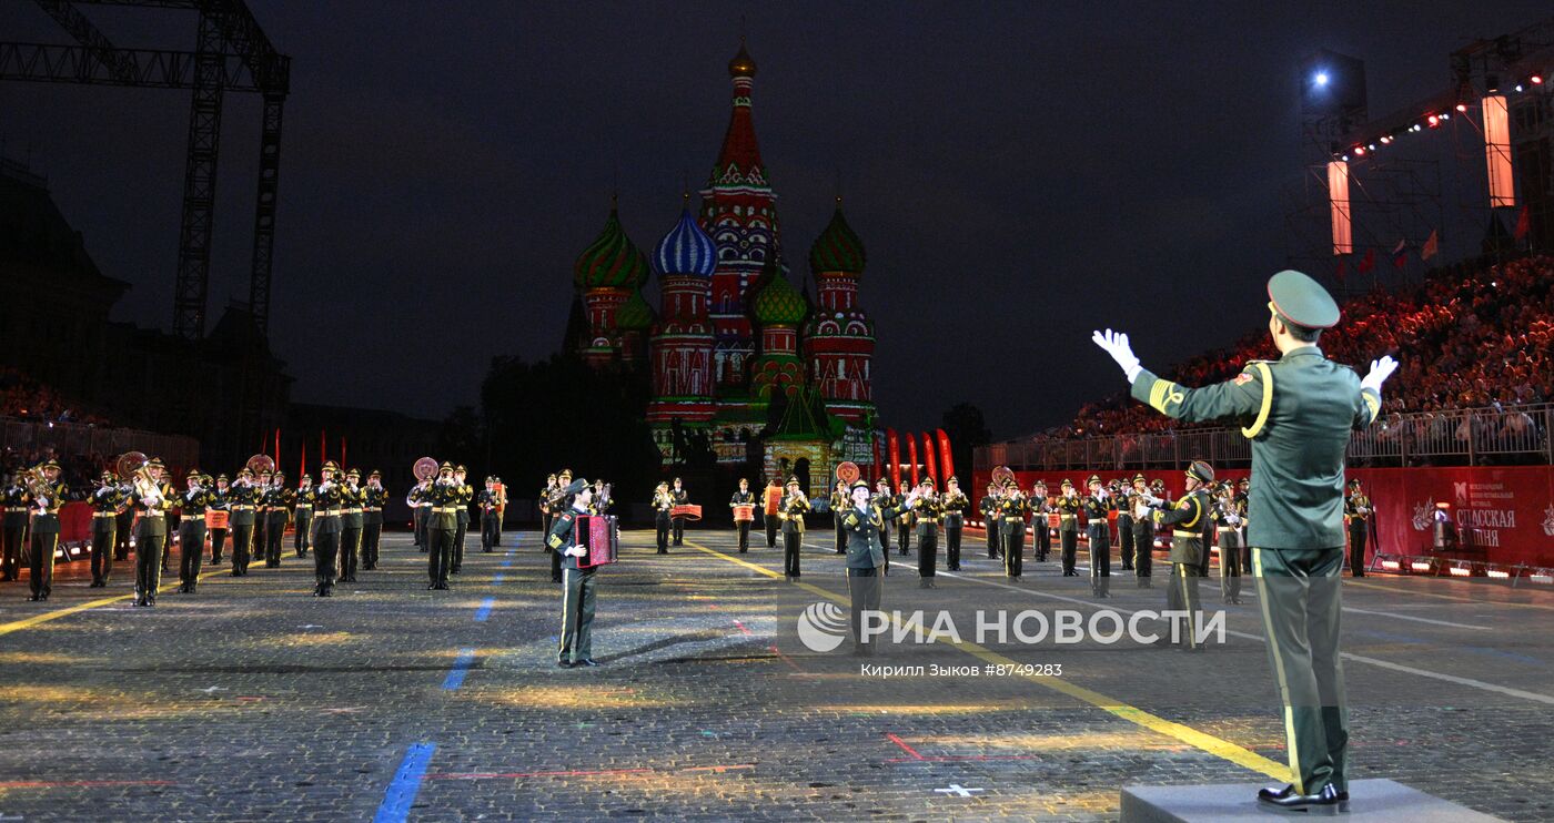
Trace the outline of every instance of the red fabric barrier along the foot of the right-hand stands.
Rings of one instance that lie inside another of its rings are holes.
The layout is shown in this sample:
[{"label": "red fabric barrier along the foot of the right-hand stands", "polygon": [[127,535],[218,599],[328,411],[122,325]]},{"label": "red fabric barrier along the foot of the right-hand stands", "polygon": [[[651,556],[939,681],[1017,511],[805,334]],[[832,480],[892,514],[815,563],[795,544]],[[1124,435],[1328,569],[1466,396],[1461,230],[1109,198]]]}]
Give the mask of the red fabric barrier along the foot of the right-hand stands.
[{"label": "red fabric barrier along the foot of the right-hand stands", "polygon": [[[1138,471],[1094,472],[1105,481],[1131,480]],[[1215,472],[1217,478],[1240,480],[1246,469]],[[1037,478],[1054,494],[1064,477],[1075,486],[1091,472],[1015,472],[1019,488],[1030,491]],[[1183,492],[1183,472],[1147,471],[1166,481],[1170,497]],[[981,500],[991,474],[979,471],[967,489]],[[1455,466],[1423,469],[1355,469],[1350,478],[1364,484],[1375,506],[1375,550],[1385,554],[1444,556],[1497,565],[1554,568],[1554,466]],[[1083,494],[1083,489],[1080,489]],[[1434,551],[1431,512],[1436,503],[1456,525],[1459,545]],[[973,505],[976,511],[976,505]],[[1256,512],[1249,512],[1256,517]]]}]

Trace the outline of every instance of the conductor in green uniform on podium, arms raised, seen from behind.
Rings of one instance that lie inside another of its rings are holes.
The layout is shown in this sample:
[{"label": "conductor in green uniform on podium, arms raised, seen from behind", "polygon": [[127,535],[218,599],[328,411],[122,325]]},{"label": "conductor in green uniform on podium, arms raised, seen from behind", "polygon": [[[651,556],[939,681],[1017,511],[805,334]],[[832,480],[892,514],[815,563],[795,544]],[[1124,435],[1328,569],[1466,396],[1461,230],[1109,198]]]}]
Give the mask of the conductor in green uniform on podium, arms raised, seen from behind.
[{"label": "conductor in green uniform on podium, arms raised, seen from behind", "polygon": [[1307,812],[1349,806],[1349,716],[1338,649],[1344,562],[1344,449],[1352,429],[1382,410],[1382,384],[1397,362],[1382,357],[1361,379],[1322,356],[1322,329],[1338,325],[1332,295],[1299,272],[1268,280],[1268,334],[1280,357],[1234,379],[1187,388],[1139,365],[1128,335],[1096,332],[1122,366],[1133,398],[1183,421],[1248,421],[1253,477],[1248,543],[1253,579],[1284,703],[1293,783],[1263,789],[1263,806]]}]

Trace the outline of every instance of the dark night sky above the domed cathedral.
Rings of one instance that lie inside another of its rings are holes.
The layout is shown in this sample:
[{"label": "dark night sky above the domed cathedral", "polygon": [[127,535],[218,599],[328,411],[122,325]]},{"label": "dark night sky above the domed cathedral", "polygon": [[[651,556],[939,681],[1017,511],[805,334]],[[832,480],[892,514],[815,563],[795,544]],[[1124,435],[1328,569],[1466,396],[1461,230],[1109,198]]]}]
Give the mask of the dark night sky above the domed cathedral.
[{"label": "dark night sky above the domed cathedral", "polygon": [[[810,276],[838,191],[867,245],[883,422],[931,429],[970,401],[1001,438],[1122,388],[1092,328],[1127,329],[1152,366],[1260,328],[1263,280],[1288,252],[1280,188],[1301,175],[1304,56],[1364,59],[1383,113],[1444,89],[1451,50],[1548,14],[1546,0],[249,5],[292,56],[270,335],[294,401],[441,416],[477,404],[491,356],[555,351],[572,261],[612,188],[648,250],[682,180],[704,185],[743,9],[794,275]],[[81,8],[120,47],[193,48],[190,12]],[[0,33],[68,42],[22,0],[0,3]],[[30,158],[104,273],[134,284],[117,320],[171,326],[188,101],[0,84],[5,155]],[[225,98],[210,325],[247,298],[258,112]]]}]

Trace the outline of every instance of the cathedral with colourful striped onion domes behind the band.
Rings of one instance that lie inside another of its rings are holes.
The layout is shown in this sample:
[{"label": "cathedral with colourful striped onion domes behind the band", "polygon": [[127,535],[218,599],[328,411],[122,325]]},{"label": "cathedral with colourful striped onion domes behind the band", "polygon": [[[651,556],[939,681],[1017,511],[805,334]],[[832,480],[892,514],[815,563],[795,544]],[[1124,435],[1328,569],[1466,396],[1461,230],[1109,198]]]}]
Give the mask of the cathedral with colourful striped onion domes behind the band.
[{"label": "cathedral with colourful striped onion domes behind the band", "polygon": [[[699,213],[690,196],[651,255],[612,208],[578,256],[586,332],[572,349],[595,368],[646,368],[646,418],[664,463],[712,452],[766,477],[830,488],[833,467],[875,463],[873,323],[858,306],[864,245],[836,213],[810,248],[814,298],[788,280],[772,191],[755,140],[755,61],[729,61],[733,106]],[[659,309],[643,297],[650,273]],[[760,478],[752,478],[758,483]]]}]

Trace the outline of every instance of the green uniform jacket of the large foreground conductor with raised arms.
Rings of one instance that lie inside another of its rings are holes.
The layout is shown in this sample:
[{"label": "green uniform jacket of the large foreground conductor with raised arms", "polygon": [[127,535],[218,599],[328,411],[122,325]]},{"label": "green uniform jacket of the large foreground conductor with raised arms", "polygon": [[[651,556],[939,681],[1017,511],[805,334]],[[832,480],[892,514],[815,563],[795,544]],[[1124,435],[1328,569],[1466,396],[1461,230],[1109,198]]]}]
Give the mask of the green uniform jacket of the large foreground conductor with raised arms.
[{"label": "green uniform jacket of the large foreground conductor with raised arms", "polygon": [[1344,545],[1344,449],[1349,432],[1382,410],[1382,394],[1360,388],[1352,368],[1316,346],[1274,362],[1256,360],[1235,379],[1187,388],[1148,370],[1133,380],[1133,398],[1183,419],[1248,421],[1253,441],[1248,543],[1259,548]]}]

